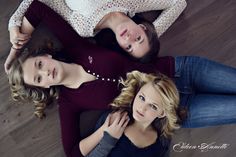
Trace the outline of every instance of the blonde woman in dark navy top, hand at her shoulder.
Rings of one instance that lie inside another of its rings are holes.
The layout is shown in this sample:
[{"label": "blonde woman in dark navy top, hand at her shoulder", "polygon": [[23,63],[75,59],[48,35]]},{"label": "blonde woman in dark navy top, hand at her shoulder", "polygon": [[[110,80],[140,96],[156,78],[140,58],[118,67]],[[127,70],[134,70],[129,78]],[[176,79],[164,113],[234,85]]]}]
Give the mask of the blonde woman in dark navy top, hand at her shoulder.
[{"label": "blonde woman in dark navy top, hand at her shoulder", "polygon": [[111,104],[113,110],[119,111],[101,116],[97,130],[80,142],[82,154],[88,157],[164,156],[173,131],[179,128],[179,94],[174,82],[160,73],[133,71],[121,84],[121,93]]}]

